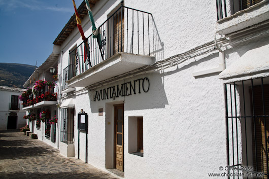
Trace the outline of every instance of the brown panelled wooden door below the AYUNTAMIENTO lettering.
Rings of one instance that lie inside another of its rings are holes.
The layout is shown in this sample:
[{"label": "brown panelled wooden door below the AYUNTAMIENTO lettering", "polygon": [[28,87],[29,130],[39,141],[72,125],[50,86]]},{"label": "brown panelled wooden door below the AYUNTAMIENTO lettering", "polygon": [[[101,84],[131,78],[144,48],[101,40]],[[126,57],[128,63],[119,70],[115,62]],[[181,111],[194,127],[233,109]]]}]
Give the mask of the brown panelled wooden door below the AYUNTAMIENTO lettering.
[{"label": "brown panelled wooden door below the AYUNTAMIENTO lettering", "polygon": [[123,104],[114,105],[114,161],[116,169],[124,170],[124,108]]}]

